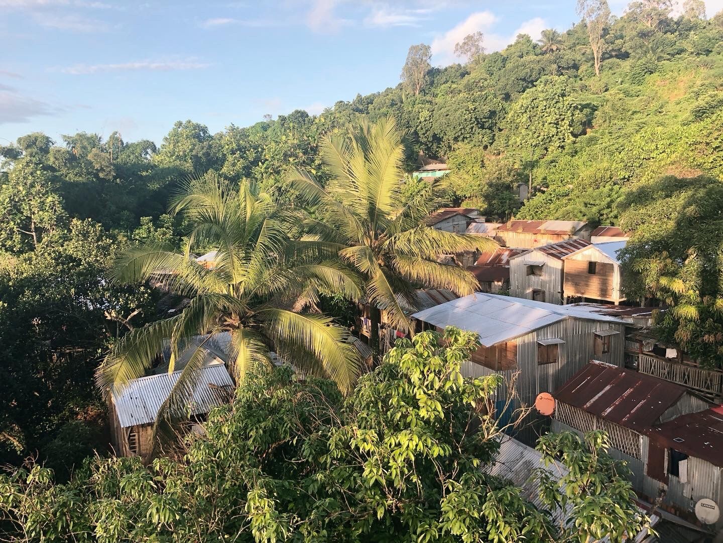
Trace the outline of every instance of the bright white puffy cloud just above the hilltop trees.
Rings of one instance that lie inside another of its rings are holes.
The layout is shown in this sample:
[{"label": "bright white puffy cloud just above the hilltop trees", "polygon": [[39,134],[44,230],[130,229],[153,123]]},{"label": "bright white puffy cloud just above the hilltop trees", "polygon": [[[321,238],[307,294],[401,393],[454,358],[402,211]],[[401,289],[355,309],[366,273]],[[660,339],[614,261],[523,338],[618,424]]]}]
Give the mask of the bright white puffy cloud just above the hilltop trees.
[{"label": "bright white puffy cloud just above the hilltop trees", "polygon": [[435,62],[446,66],[458,61],[454,55],[454,46],[460,43],[468,34],[482,32],[484,34],[484,48],[487,52],[490,52],[504,49],[510,43],[513,43],[518,34],[529,34],[533,40],[536,40],[540,37],[542,30],[549,27],[544,19],[535,17],[523,22],[512,34],[502,35],[492,31],[494,25],[499,21],[500,18],[489,11],[471,14],[466,20],[463,20],[463,22],[446,33],[437,36],[432,41],[432,54]]}]

